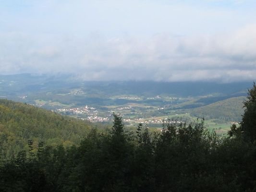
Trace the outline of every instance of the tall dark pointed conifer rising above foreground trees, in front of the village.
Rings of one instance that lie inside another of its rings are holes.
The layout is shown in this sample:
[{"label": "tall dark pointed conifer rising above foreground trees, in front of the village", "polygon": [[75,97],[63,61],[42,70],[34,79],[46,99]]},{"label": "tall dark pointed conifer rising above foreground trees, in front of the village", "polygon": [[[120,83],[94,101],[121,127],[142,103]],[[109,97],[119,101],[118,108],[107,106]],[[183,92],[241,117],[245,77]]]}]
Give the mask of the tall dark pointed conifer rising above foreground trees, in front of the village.
[{"label": "tall dark pointed conifer rising above foreground trees, in front of the village", "polygon": [[132,142],[124,132],[122,116],[113,113],[113,126],[102,144],[100,154],[101,191],[127,191],[130,182]]}]

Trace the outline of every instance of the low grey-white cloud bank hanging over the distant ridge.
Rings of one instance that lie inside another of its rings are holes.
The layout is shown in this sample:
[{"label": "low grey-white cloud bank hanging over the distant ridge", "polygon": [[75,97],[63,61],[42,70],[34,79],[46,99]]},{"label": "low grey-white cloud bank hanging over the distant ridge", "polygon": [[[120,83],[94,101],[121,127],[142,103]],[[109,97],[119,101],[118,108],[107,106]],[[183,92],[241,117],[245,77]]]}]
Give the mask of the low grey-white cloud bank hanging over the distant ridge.
[{"label": "low grey-white cloud bank hanging over the distant ridge", "polygon": [[226,34],[106,38],[0,34],[0,73],[73,73],[85,80],[256,78],[256,25]]}]

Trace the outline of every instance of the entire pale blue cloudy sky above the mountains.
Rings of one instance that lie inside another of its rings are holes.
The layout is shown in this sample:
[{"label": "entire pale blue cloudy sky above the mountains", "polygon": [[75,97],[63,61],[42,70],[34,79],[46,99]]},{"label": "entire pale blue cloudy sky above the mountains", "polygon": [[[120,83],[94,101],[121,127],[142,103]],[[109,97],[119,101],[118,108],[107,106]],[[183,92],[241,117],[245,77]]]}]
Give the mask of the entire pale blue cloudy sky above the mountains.
[{"label": "entire pale blue cloudy sky above the mountains", "polygon": [[256,0],[0,0],[0,74],[256,80]]}]

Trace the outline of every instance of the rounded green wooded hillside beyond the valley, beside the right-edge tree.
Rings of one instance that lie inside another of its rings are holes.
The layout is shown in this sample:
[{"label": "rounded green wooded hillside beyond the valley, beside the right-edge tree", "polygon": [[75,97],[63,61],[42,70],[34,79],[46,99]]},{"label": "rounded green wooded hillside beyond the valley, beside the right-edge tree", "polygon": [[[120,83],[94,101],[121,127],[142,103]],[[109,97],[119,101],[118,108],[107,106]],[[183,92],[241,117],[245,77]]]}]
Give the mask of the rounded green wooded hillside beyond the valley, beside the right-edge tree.
[{"label": "rounded green wooded hillside beyond the valley, beside the right-edge tree", "polygon": [[244,113],[243,101],[245,99],[245,96],[232,97],[207,106],[191,109],[190,114],[195,117],[204,117],[206,120],[240,121],[241,115]]}]

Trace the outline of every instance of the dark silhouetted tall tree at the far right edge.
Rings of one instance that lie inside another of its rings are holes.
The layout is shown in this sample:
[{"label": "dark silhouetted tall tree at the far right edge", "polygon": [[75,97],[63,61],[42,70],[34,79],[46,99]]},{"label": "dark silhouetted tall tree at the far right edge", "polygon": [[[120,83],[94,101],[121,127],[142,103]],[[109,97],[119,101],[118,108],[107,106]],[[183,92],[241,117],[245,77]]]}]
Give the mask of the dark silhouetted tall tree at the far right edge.
[{"label": "dark silhouetted tall tree at the far right edge", "polygon": [[244,139],[249,142],[256,142],[256,84],[248,90],[248,96],[244,102],[244,115],[241,122],[241,128]]}]

